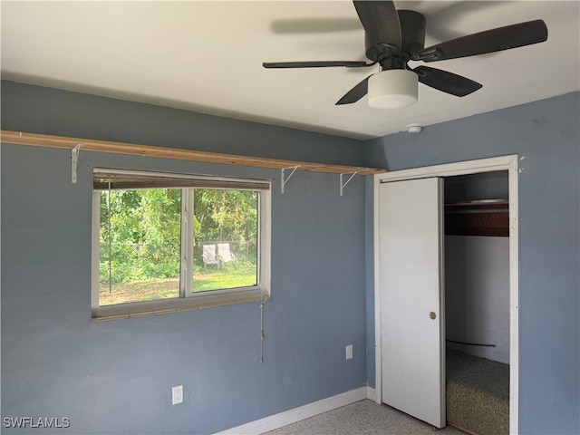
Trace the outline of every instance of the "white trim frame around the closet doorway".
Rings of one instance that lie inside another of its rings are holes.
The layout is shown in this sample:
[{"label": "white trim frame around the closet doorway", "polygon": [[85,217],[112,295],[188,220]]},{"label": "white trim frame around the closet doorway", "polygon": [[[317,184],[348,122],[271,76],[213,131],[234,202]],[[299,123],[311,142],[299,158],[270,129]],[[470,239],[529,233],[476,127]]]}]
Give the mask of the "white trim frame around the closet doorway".
[{"label": "white trim frame around the closet doorway", "polygon": [[519,431],[519,256],[518,188],[516,154],[490,159],[459,161],[415,169],[402,169],[374,176],[374,334],[375,396],[382,403],[381,292],[379,288],[379,186],[382,182],[427,177],[452,177],[495,170],[507,170],[509,179],[509,432]]}]

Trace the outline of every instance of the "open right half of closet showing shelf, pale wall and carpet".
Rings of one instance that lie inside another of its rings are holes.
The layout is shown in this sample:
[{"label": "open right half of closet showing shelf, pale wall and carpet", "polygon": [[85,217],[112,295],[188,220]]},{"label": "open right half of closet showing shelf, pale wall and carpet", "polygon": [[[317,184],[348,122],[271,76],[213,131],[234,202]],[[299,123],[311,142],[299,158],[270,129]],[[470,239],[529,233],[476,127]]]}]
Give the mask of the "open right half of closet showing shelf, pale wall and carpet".
[{"label": "open right half of closet showing shelf, pale wall and carpet", "polygon": [[443,183],[447,422],[478,435],[508,434],[508,172]]}]

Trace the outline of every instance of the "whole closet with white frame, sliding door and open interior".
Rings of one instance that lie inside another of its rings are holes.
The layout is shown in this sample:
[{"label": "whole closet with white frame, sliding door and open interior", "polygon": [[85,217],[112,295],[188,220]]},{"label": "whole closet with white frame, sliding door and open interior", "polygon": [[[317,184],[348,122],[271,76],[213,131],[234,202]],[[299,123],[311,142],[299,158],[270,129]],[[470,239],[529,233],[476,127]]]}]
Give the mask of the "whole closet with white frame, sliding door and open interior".
[{"label": "whole closet with white frame, sliding door and open interior", "polygon": [[436,428],[519,432],[520,159],[374,177],[377,403]]}]

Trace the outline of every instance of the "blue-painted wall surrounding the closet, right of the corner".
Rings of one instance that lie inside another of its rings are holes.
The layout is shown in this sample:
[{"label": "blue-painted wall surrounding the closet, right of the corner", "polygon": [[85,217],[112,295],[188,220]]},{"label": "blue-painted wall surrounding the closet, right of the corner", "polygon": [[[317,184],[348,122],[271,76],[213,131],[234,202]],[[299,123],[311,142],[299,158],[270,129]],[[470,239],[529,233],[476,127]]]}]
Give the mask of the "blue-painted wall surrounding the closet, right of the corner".
[{"label": "blue-painted wall surrounding the closet, right of the corner", "polygon": [[[367,142],[369,166],[407,169],[519,154],[520,431],[580,433],[579,93]],[[369,186],[369,181],[367,181]],[[367,200],[372,216],[372,200]],[[369,232],[372,227],[368,226]],[[372,238],[367,234],[369,251]],[[367,372],[374,385],[372,266]]]}]

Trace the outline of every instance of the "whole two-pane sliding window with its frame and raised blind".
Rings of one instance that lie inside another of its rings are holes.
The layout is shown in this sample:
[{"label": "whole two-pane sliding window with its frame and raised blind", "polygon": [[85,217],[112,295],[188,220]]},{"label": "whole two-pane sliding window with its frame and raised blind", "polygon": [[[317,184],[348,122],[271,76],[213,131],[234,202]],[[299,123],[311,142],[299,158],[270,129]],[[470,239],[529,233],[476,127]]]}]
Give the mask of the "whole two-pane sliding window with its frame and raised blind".
[{"label": "whole two-pane sliding window with its frame and raised blind", "polygon": [[269,296],[270,180],[94,169],[92,317]]}]

